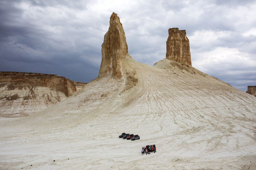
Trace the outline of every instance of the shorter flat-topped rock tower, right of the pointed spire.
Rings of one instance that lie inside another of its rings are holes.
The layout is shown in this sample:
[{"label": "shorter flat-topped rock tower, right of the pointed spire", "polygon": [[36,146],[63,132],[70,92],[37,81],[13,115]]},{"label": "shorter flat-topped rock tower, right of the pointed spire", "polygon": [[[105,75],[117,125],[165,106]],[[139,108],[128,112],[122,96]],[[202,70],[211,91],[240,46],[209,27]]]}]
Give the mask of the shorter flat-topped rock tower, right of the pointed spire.
[{"label": "shorter flat-topped rock tower, right of the pointed spire", "polygon": [[166,58],[192,66],[189,39],[186,36],[186,30],[170,28],[168,33],[169,36],[166,41]]}]

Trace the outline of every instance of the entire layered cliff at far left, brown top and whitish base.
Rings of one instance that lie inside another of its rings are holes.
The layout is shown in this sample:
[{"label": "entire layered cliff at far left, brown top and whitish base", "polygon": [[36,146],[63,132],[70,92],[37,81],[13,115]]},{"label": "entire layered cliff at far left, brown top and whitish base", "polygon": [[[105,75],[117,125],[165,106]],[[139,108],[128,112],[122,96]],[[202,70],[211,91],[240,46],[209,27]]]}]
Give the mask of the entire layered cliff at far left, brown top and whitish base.
[{"label": "entire layered cliff at far left, brown top and whitish base", "polygon": [[0,117],[24,117],[42,111],[86,84],[58,75],[0,72]]}]

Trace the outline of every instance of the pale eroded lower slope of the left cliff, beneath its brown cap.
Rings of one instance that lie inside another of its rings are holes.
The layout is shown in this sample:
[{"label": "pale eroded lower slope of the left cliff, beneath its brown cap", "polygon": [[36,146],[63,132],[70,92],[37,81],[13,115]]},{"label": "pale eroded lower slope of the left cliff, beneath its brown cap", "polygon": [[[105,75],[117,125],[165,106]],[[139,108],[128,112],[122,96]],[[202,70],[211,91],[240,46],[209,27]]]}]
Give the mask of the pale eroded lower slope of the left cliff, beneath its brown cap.
[{"label": "pale eroded lower slope of the left cliff, beneath its brown cap", "polygon": [[42,111],[67,96],[56,89],[20,82],[0,83],[0,117],[24,117]]}]

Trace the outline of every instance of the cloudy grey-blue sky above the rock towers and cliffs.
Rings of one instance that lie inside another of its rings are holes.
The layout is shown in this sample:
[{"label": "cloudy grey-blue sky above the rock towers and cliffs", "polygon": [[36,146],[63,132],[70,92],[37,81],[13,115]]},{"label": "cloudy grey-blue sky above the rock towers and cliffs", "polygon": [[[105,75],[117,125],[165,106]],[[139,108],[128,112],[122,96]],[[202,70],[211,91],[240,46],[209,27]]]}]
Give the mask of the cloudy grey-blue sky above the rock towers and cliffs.
[{"label": "cloudy grey-blue sky above the rock towers and cliffs", "polygon": [[242,91],[256,85],[256,0],[1,0],[0,71],[89,83],[113,12],[136,61],[164,59],[168,29],[177,27],[194,68]]}]

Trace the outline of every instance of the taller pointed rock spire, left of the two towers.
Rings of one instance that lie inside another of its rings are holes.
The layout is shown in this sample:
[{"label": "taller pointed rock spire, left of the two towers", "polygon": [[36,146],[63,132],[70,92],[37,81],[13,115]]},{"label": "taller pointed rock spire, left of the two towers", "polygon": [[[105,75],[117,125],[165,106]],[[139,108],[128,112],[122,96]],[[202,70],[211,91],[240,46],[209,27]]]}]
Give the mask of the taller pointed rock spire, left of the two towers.
[{"label": "taller pointed rock spire, left of the two towers", "polygon": [[110,17],[109,28],[102,44],[102,61],[98,77],[113,75],[122,78],[121,59],[128,55],[125,32],[116,13]]}]

